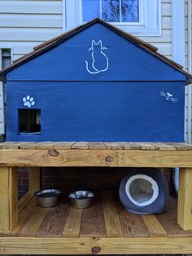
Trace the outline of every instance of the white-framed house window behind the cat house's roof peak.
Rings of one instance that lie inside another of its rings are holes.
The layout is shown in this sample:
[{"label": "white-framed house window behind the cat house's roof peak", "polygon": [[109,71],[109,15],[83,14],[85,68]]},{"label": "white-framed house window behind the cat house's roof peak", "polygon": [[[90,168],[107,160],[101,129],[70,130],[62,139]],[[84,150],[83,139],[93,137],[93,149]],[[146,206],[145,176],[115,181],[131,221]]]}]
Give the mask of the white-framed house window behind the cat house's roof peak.
[{"label": "white-framed house window behind the cat house's roof peak", "polygon": [[96,17],[137,36],[161,34],[161,0],[65,0],[64,30]]}]

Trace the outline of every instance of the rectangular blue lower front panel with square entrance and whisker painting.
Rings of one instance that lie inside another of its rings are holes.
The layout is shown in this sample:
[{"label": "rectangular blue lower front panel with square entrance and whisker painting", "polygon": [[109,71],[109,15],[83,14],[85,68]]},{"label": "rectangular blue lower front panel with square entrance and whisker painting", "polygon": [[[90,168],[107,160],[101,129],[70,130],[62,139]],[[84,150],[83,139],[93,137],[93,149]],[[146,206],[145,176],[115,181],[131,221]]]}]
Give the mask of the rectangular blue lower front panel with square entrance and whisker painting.
[{"label": "rectangular blue lower front panel with square entrance and whisker painting", "polygon": [[[184,141],[184,82],[8,82],[8,141]],[[19,135],[33,97],[41,135]]]}]

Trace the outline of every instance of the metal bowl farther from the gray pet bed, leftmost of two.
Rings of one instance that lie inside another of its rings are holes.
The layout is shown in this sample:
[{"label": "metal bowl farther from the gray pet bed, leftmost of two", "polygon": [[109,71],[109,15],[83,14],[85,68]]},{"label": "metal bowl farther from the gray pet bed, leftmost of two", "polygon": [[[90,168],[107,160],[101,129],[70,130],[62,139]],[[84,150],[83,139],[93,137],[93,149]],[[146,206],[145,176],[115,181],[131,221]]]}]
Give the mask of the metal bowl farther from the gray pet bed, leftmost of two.
[{"label": "metal bowl farther from the gray pet bed, leftmost of two", "polygon": [[37,205],[41,207],[54,207],[57,205],[60,195],[61,191],[58,189],[45,189],[34,193]]}]

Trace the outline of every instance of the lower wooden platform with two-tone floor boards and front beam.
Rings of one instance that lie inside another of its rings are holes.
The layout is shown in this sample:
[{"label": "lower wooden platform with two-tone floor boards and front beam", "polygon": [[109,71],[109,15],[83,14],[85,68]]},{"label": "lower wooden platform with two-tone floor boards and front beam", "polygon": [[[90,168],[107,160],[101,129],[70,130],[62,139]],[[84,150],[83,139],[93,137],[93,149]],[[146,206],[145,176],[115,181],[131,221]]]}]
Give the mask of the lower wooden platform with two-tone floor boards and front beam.
[{"label": "lower wooden platform with two-tone floor boards and front beam", "polygon": [[124,210],[117,192],[102,192],[84,210],[67,200],[40,208],[34,198],[20,211],[12,231],[0,232],[4,254],[185,254],[192,250],[192,231],[177,225],[177,202],[159,215]]}]

